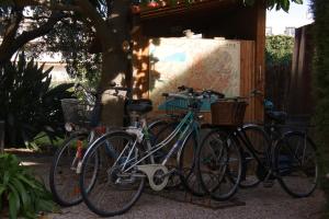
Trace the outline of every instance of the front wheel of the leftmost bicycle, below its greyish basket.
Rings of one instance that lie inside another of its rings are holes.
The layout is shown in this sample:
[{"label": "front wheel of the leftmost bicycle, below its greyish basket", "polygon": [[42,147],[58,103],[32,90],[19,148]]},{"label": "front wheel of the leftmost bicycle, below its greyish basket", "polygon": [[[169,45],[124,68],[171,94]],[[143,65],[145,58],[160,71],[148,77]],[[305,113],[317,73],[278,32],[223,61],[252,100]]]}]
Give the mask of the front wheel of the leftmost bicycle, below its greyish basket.
[{"label": "front wheel of the leftmost bicycle, below its greyish basket", "polygon": [[[78,147],[87,148],[89,132],[78,132],[66,139],[57,149],[49,171],[49,185],[54,199],[61,206],[73,206],[82,201],[79,187],[77,157]],[[80,151],[82,152],[82,151]]]}]

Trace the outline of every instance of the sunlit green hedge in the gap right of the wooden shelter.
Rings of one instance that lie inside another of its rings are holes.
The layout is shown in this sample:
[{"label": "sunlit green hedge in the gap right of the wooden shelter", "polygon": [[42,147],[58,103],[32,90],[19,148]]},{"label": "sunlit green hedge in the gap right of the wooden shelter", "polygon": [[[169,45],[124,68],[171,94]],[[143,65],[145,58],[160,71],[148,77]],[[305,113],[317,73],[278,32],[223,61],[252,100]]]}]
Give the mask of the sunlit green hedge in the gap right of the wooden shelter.
[{"label": "sunlit green hedge in the gap right of the wooden shelter", "polygon": [[266,67],[291,66],[294,49],[292,36],[266,36],[265,58]]}]

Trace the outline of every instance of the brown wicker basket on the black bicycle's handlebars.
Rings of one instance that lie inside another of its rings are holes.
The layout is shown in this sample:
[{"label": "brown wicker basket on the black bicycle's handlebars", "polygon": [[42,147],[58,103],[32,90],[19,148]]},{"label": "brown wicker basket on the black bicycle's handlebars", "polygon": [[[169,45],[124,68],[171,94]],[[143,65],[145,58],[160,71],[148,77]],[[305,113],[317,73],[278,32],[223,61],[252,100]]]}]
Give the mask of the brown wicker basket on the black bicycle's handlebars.
[{"label": "brown wicker basket on the black bicycle's handlebars", "polygon": [[247,102],[240,99],[222,99],[212,104],[212,124],[240,126],[243,124]]}]

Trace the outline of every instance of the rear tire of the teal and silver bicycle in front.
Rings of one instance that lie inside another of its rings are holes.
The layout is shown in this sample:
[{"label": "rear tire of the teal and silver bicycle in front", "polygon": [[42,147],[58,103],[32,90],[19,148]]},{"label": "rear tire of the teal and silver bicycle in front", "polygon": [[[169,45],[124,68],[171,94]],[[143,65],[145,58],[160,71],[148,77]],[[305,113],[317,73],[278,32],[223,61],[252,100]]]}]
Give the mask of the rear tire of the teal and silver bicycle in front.
[{"label": "rear tire of the teal and silver bicycle in front", "polygon": [[[118,141],[115,141],[115,139]],[[126,151],[123,152],[123,160],[118,160],[115,166],[112,166],[112,164],[114,164],[118,155],[113,158],[113,153],[103,152],[110,143],[116,149],[117,154],[121,154],[124,146],[127,146],[127,143],[132,146],[134,142],[135,137],[132,135],[125,131],[112,131],[97,139],[83,157],[80,174],[81,194],[88,208],[99,216],[112,217],[122,215],[129,210],[141,195],[145,177],[131,175],[129,178],[124,178],[124,176],[118,176],[120,168],[125,161]],[[138,150],[136,149],[135,152],[138,153]],[[137,154],[135,152],[134,154]],[[88,183],[88,161],[93,154],[98,153],[101,154],[101,164],[99,165],[101,170],[99,170],[97,181],[91,187]],[[106,165],[109,165],[109,168]],[[133,191],[131,196],[128,189]],[[126,195],[128,195],[127,200],[123,200]],[[95,196],[95,200],[93,196]],[[121,204],[123,205],[121,206]]]}]

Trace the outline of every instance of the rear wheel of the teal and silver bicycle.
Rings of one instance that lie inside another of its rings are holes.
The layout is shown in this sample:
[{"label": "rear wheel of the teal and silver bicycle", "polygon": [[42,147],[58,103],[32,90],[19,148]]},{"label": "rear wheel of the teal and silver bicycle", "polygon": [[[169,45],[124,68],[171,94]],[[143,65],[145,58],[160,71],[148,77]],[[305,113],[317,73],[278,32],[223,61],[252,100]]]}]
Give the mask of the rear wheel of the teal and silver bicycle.
[{"label": "rear wheel of the teal and silver bicycle", "polygon": [[[93,212],[111,217],[126,212],[139,198],[145,175],[129,165],[139,158],[135,137],[125,131],[114,131],[99,138],[87,151],[80,174],[80,187],[84,203]],[[99,171],[91,183],[94,158],[99,157]],[[124,168],[125,166],[125,168]]]}]

